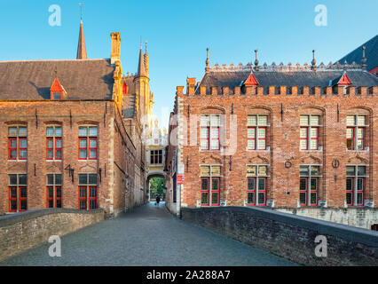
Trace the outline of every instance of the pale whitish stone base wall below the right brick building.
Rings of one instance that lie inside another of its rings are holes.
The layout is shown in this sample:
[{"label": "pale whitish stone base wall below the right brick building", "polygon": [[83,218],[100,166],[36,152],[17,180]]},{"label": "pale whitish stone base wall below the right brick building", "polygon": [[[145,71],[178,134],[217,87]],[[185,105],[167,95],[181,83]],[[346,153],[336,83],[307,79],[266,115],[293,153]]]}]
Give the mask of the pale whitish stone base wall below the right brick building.
[{"label": "pale whitish stone base wall below the right brick building", "polygon": [[372,225],[378,224],[378,209],[369,208],[311,208],[277,209],[280,212],[291,213],[303,217],[311,217],[343,225],[353,225],[370,230]]}]

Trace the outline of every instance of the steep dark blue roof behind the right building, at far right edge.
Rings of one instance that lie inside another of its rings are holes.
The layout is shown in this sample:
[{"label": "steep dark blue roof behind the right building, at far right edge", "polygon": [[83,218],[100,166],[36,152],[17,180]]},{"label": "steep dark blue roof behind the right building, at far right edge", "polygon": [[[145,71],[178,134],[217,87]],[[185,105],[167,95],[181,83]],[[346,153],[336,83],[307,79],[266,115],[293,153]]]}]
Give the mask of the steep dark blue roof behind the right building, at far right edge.
[{"label": "steep dark blue roof behind the right building, at far right edge", "polygon": [[378,35],[374,36],[372,39],[367,41],[364,44],[358,46],[357,49],[351,51],[348,55],[344,56],[342,59],[339,60],[341,64],[347,60],[348,63],[352,63],[353,61],[357,64],[361,63],[362,59],[362,46],[366,46],[365,56],[366,56],[366,64],[367,64],[367,71],[378,67]]}]

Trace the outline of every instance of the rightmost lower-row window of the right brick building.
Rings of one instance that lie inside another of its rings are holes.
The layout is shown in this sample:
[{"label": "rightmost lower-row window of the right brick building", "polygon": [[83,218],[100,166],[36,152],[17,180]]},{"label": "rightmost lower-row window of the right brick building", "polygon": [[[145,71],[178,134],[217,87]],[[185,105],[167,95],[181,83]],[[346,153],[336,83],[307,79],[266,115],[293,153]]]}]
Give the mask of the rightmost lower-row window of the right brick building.
[{"label": "rightmost lower-row window of the right brick building", "polygon": [[348,206],[364,206],[366,166],[346,167],[346,203]]}]

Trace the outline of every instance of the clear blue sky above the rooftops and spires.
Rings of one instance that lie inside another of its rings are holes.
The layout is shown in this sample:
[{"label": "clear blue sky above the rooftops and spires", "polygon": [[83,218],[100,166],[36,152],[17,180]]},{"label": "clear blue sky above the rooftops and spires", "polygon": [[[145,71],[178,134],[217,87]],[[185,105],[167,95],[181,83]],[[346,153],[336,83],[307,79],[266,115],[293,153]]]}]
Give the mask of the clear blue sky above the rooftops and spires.
[{"label": "clear blue sky above the rooftops and spires", "polygon": [[[140,38],[148,41],[154,114],[170,111],[186,76],[201,80],[206,48],[210,65],[340,59],[378,33],[377,0],[38,0],[4,1],[0,8],[0,60],[75,59],[83,2],[89,58],[110,56],[110,33],[122,36],[122,69],[135,73]],[[51,4],[61,27],[49,25]],[[327,27],[314,24],[317,4],[327,6]],[[162,119],[161,127],[168,118]]]}]

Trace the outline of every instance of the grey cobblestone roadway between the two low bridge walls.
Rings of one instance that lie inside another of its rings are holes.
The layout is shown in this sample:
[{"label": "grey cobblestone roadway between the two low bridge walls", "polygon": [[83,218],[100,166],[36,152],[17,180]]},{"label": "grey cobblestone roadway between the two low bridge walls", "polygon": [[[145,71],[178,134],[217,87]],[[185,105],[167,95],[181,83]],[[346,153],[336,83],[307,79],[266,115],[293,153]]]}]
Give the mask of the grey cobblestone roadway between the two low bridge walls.
[{"label": "grey cobblestone roadway between the two low bridge walls", "polygon": [[0,262],[1,265],[295,265],[169,214],[164,204],[134,209],[61,238],[61,257],[51,243]]}]

